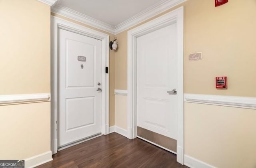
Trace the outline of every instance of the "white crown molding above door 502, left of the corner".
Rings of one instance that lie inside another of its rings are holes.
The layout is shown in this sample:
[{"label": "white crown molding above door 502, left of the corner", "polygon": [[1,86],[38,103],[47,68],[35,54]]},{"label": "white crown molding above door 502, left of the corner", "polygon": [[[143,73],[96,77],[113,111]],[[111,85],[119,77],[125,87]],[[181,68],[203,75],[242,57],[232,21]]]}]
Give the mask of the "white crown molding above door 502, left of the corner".
[{"label": "white crown molding above door 502, left of the corner", "polygon": [[59,6],[58,4],[52,6],[51,11],[53,13],[65,16],[67,18],[70,18],[72,20],[76,20],[78,22],[82,22],[84,24],[87,24],[87,25],[92,26],[94,28],[98,28],[98,29],[103,30],[105,32],[115,34],[114,26],[110,26],[109,24],[106,24],[104,22],[96,20],[96,19],[94,19],[90,16],[87,16],[85,14],[82,14],[80,12],[76,12],[75,10],[72,10],[70,8]]}]

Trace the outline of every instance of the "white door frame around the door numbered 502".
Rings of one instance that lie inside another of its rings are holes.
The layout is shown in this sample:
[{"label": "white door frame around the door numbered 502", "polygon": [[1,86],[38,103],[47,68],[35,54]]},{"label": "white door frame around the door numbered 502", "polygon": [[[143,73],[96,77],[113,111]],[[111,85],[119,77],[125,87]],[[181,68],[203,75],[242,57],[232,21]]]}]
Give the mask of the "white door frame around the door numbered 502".
[{"label": "white door frame around the door numbered 502", "polygon": [[58,30],[63,29],[101,41],[102,52],[102,96],[101,96],[101,133],[109,133],[108,107],[109,107],[109,74],[105,73],[105,67],[109,66],[109,35],[66,20],[51,16],[51,150],[52,154],[57,153],[57,111],[58,111]]}]

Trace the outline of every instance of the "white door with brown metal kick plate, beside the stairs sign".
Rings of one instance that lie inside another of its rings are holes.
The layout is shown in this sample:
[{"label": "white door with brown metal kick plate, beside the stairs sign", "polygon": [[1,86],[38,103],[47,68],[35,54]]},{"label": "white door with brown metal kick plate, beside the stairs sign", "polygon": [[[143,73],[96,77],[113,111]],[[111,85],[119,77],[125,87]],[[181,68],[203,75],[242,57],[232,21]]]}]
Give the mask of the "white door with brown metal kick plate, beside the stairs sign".
[{"label": "white door with brown metal kick plate, beside the stairs sign", "polygon": [[178,99],[172,92],[178,86],[176,36],[174,23],[137,38],[137,134],[172,152],[178,134]]}]

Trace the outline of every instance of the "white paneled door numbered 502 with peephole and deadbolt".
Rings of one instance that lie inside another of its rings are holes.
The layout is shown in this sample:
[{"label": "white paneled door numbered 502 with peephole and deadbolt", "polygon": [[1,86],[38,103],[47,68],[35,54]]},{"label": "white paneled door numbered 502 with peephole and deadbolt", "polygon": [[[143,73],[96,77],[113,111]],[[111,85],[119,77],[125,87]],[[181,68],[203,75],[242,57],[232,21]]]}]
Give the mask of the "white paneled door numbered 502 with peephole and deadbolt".
[{"label": "white paneled door numbered 502 with peephole and deadbolt", "polygon": [[101,133],[101,41],[58,34],[58,147]]}]

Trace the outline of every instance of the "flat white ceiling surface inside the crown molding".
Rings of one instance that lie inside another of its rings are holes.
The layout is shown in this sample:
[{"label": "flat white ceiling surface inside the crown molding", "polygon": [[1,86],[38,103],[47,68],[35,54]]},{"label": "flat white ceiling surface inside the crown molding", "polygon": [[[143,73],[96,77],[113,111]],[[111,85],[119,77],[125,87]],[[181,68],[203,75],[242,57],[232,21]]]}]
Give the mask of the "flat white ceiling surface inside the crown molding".
[{"label": "flat white ceiling surface inside the crown molding", "polygon": [[66,7],[116,27],[162,0],[58,0]]}]

